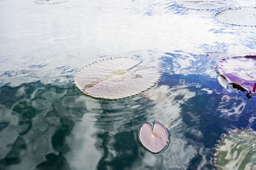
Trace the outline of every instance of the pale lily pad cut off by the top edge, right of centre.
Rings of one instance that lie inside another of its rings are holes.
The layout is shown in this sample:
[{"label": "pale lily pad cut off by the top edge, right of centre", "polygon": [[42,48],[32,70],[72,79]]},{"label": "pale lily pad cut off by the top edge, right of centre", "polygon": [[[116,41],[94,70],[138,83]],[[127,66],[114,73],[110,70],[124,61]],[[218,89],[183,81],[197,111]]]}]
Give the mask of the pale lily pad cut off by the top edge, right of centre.
[{"label": "pale lily pad cut off by the top edge, right of centre", "polygon": [[177,4],[195,10],[214,10],[227,6],[223,0],[177,0]]}]

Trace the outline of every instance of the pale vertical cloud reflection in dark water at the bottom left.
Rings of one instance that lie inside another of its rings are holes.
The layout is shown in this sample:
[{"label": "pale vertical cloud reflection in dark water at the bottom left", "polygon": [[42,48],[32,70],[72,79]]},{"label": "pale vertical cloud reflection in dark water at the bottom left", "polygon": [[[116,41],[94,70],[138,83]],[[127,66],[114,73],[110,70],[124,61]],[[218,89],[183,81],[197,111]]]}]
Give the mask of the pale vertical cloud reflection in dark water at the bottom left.
[{"label": "pale vertical cloud reflection in dark water at the bottom left", "polygon": [[101,155],[100,150],[95,147],[97,129],[93,127],[95,118],[92,113],[84,114],[81,122],[76,122],[72,134],[67,137],[70,152],[65,158],[71,169],[97,169]]}]

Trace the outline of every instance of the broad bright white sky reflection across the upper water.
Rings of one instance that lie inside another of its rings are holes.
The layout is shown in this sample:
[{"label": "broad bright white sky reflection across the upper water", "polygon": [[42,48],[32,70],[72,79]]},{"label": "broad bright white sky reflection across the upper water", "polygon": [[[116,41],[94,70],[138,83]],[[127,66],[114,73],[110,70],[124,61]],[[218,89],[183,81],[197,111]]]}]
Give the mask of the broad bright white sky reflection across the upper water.
[{"label": "broad bright white sky reflection across the upper water", "polygon": [[212,75],[216,57],[256,53],[254,28],[221,24],[214,20],[214,11],[188,10],[166,0],[75,0],[56,5],[5,1],[0,9],[0,74],[15,70],[3,78],[3,84],[13,86],[42,79],[67,83],[71,78],[65,76],[106,55],[140,55],[156,65],[163,53],[179,50],[189,57],[174,59],[173,71],[189,74],[199,68],[191,53],[225,48],[206,61],[204,73]]}]

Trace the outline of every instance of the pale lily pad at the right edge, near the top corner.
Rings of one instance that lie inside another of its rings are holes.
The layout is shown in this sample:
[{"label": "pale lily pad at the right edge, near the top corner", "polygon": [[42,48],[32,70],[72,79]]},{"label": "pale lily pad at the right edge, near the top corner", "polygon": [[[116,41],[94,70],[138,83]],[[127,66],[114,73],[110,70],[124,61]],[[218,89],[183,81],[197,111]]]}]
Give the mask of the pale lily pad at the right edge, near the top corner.
[{"label": "pale lily pad at the right edge, near the top corner", "polygon": [[256,27],[256,7],[228,8],[216,13],[215,18],[225,24]]}]

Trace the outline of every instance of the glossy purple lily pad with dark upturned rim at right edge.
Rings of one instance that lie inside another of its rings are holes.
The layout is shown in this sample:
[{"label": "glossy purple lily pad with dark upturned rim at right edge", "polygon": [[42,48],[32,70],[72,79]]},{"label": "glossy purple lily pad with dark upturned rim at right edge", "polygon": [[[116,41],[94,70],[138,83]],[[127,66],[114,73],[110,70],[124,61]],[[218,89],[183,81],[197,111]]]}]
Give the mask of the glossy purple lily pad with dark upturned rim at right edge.
[{"label": "glossy purple lily pad with dark upturned rim at right edge", "polygon": [[256,56],[223,59],[216,64],[216,69],[228,83],[241,87],[249,94],[256,94]]}]

